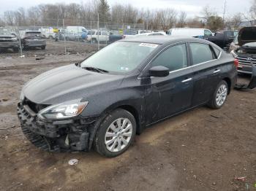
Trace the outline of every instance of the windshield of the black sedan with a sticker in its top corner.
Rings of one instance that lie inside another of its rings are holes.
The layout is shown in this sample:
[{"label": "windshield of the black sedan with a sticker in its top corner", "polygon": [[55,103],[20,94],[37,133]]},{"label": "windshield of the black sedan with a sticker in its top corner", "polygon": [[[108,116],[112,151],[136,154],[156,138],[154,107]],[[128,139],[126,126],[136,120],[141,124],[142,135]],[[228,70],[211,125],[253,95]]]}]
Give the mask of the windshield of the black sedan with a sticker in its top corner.
[{"label": "windshield of the black sedan with a sticker in its top corner", "polygon": [[128,72],[135,69],[158,46],[141,42],[115,42],[91,55],[80,67]]}]

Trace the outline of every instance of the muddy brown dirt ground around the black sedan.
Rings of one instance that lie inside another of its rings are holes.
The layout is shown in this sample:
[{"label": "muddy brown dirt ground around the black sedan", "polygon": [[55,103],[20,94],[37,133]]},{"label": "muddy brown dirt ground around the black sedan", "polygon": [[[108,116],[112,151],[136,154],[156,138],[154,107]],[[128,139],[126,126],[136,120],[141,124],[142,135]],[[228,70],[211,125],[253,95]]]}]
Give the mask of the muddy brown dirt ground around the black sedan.
[{"label": "muddy brown dirt ground around the black sedan", "polygon": [[0,190],[256,190],[256,90],[233,90],[222,109],[160,122],[116,158],[34,147],[16,116],[22,85],[83,57],[0,59]]}]

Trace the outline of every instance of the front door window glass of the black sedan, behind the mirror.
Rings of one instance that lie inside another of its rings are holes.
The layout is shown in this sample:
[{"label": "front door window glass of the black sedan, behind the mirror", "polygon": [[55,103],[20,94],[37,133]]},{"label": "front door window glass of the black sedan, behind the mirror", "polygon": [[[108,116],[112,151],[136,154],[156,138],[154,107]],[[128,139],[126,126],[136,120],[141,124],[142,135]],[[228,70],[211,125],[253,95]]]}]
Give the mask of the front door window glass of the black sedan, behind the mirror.
[{"label": "front door window glass of the black sedan, behind the mirror", "polygon": [[160,53],[152,62],[152,66],[165,66],[169,71],[187,67],[186,44],[178,44]]}]

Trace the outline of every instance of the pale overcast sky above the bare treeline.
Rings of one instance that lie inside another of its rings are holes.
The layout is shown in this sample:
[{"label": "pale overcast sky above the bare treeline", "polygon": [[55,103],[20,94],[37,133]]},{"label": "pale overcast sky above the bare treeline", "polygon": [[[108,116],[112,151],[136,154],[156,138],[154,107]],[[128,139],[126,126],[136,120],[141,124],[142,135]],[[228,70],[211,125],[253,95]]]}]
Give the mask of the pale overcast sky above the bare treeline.
[{"label": "pale overcast sky above the bare treeline", "polygon": [[[15,10],[18,7],[29,8],[37,4],[47,3],[80,3],[82,0],[0,0],[4,1],[0,7],[0,15],[6,10]],[[249,10],[253,0],[227,0],[227,15],[234,15],[236,12],[246,13]],[[85,1],[83,1],[85,2]],[[161,9],[161,8],[173,8],[177,11],[185,11],[189,17],[200,15],[202,7],[209,5],[214,8],[219,15],[223,14],[225,0],[108,0],[110,5],[132,4],[134,7],[143,9]]]}]

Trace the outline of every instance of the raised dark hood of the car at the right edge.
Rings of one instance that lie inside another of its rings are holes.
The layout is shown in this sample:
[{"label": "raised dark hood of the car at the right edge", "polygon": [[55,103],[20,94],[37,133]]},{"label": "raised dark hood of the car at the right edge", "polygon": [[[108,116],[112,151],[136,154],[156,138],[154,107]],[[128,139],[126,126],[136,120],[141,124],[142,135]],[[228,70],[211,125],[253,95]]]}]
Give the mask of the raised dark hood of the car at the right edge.
[{"label": "raised dark hood of the car at the right edge", "polygon": [[256,26],[241,28],[238,34],[238,44],[242,46],[249,42],[256,42]]}]

